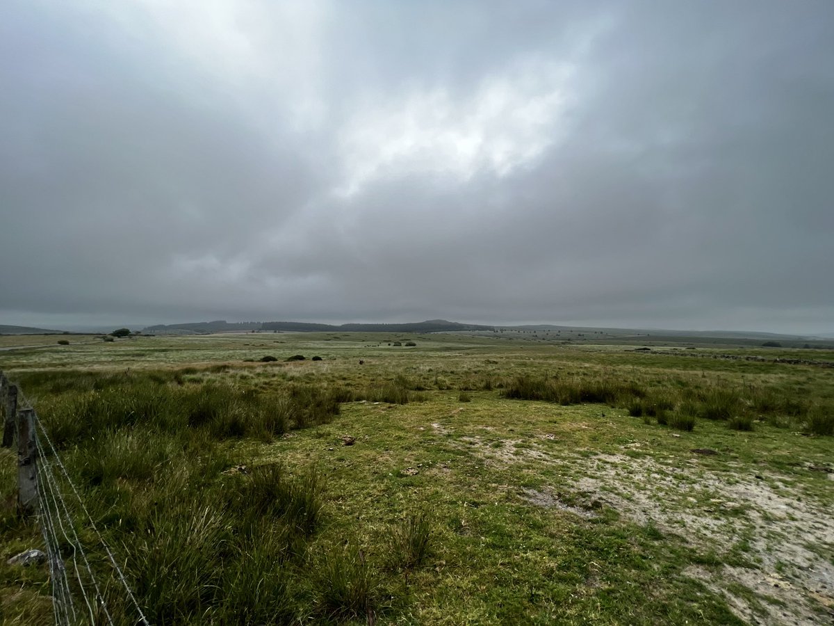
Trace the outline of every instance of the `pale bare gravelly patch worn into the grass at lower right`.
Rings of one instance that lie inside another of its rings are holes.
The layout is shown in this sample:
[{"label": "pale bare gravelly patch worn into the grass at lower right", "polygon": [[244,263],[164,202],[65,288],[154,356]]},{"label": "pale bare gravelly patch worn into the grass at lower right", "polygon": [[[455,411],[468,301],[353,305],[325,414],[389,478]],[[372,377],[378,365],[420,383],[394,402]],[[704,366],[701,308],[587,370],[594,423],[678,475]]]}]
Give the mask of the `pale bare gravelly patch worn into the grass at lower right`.
[{"label": "pale bare gravelly patch worn into the grass at lower right", "polygon": [[[731,561],[691,566],[686,574],[723,594],[733,612],[748,623],[834,623],[834,512],[814,494],[791,486],[786,477],[718,474],[702,467],[697,455],[681,467],[631,457],[627,450],[593,456],[560,451],[557,456],[542,447],[515,448],[520,441],[513,439],[500,448],[479,437],[459,441],[478,447],[485,461],[497,466],[563,466],[570,492],[588,505],[562,502],[561,482],[553,488],[522,490],[522,497],[535,506],[579,517],[594,515],[591,503],[614,507],[627,520],[653,523],[699,553],[713,552],[720,561]],[[834,473],[828,477],[834,489]],[[725,558],[731,551],[740,558]]]}]

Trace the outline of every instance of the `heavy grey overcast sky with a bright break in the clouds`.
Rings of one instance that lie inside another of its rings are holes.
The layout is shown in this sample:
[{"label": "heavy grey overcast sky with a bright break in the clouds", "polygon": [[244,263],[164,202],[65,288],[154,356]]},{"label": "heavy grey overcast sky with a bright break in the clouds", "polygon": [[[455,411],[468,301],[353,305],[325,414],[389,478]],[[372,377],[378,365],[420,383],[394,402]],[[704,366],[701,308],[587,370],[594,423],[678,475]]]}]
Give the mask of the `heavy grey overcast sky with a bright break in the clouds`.
[{"label": "heavy grey overcast sky with a bright break in the clouds", "polygon": [[834,331],[834,2],[0,4],[0,324]]}]

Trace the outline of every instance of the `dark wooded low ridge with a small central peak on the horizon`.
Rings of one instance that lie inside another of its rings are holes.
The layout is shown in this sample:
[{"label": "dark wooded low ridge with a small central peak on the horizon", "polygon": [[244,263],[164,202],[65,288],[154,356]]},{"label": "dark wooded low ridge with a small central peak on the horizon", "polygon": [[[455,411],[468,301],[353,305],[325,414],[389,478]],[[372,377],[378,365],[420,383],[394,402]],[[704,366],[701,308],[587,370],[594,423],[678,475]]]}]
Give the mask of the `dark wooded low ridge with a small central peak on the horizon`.
[{"label": "dark wooded low ridge with a small central peak on the horizon", "polygon": [[234,331],[295,331],[295,332],[448,332],[494,331],[495,326],[460,324],[456,321],[427,320],[406,324],[315,324],[304,321],[244,321],[229,323],[224,320],[189,322],[187,324],[158,324],[147,326],[145,333],[196,333]]}]

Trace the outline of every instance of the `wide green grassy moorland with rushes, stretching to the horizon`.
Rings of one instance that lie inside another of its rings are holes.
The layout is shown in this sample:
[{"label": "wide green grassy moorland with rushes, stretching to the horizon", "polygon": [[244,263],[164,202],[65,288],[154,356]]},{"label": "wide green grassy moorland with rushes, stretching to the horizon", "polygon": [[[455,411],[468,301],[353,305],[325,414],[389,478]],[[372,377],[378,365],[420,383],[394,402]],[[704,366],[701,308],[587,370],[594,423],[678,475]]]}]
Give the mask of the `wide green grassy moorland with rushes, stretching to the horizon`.
[{"label": "wide green grassy moorland with rushes, stretching to the horizon", "polygon": [[[58,338],[0,368],[151,623],[834,619],[834,352]],[[40,542],[15,474],[0,451],[0,621],[52,623],[46,569],[6,563]]]}]

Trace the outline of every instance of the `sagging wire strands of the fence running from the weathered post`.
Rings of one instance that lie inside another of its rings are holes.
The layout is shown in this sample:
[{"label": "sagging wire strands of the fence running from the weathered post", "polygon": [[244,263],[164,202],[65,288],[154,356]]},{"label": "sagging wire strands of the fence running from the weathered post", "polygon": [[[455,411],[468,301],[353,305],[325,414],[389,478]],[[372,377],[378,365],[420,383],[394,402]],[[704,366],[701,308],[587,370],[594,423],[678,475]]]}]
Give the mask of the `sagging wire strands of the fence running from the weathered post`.
[{"label": "sagging wire strands of the fence running from the weathered post", "polygon": [[[18,411],[28,409],[33,416],[30,438],[34,438],[36,455],[32,461],[37,476],[37,518],[46,548],[54,623],[150,626],[47,428],[18,388]],[[16,419],[18,441],[21,434]]]}]

